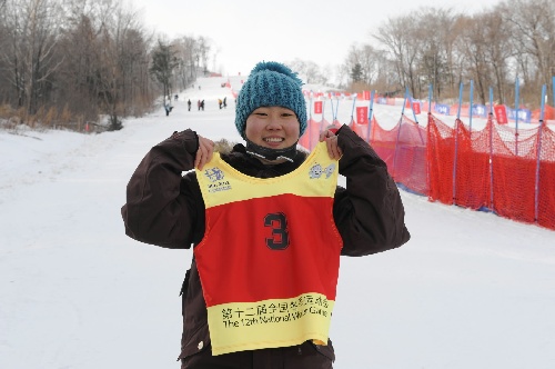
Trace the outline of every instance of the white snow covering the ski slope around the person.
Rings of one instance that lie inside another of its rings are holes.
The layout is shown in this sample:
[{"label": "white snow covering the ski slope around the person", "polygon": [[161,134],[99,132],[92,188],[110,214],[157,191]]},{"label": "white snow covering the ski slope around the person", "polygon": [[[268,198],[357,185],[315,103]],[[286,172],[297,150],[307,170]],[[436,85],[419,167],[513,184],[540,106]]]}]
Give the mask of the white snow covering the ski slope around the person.
[{"label": "white snow covering the ski slope around the person", "polygon": [[[117,132],[0,131],[0,368],[179,368],[191,251],[128,238],[120,207],[139,161],[173,131],[240,141],[222,80]],[[351,106],[341,102],[342,122]],[[374,114],[393,127],[401,107]],[[555,232],[402,198],[412,240],[342,258],[334,368],[554,368]]]}]

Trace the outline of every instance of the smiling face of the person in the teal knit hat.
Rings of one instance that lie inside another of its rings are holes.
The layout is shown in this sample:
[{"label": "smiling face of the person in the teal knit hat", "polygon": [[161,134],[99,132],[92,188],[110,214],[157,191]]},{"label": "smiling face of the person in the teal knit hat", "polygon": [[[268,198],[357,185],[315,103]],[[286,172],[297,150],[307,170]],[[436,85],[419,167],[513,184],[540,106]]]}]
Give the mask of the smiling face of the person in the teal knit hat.
[{"label": "smiling face of the person in the teal knit hat", "polygon": [[260,107],[246,118],[246,138],[264,148],[289,148],[299,141],[300,132],[295,112],[287,108]]}]

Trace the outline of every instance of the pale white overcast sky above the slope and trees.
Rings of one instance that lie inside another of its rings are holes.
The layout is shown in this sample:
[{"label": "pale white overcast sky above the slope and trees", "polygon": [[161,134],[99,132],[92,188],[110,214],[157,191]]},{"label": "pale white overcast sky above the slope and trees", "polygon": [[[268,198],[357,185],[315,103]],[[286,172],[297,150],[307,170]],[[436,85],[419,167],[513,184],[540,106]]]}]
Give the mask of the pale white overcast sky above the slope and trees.
[{"label": "pale white overcast sky above the slope and trees", "polygon": [[209,69],[248,74],[259,61],[299,58],[321,67],[342,64],[353,44],[371,43],[371,33],[389,18],[423,7],[471,14],[498,0],[260,1],[129,0],[144,24],[170,38],[206,37],[216,51]]}]

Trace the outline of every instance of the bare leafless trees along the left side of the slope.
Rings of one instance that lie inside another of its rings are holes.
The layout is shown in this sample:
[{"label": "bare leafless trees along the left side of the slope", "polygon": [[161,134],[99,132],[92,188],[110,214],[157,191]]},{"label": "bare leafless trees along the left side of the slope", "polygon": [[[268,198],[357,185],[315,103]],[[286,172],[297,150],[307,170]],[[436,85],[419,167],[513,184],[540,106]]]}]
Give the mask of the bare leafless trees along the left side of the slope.
[{"label": "bare leafless trees along the left side of the slope", "polygon": [[203,37],[148,32],[119,0],[0,0],[0,116],[120,129],[192,83],[209,53]]}]

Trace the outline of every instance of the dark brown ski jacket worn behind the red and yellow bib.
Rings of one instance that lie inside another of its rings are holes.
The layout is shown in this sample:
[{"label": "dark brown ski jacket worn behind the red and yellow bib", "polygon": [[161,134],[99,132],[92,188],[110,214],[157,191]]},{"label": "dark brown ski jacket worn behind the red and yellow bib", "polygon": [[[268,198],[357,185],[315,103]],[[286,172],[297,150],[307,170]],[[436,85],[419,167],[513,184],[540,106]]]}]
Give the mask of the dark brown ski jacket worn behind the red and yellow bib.
[{"label": "dark brown ski jacket worn behind the red and yellow bib", "polygon": [[[337,144],[343,152],[340,174],[346,178],[346,188],[336,188],[333,206],[335,225],[343,239],[341,253],[362,257],[404,245],[411,236],[404,223],[404,208],[397,187],[387,173],[385,162],[347,126],[343,126],[336,134]],[[204,202],[195,172],[192,171],[198,148],[196,133],[185,130],[174,132],[147,153],[129,181],[127,203],[121,209],[129,237],[171,249],[188,249],[202,240]],[[289,173],[305,157],[305,152],[297,151],[294,162],[269,166],[246,153],[242,144],[236,144],[229,153],[222,153],[222,158],[232,167],[258,178]],[[183,176],[183,172],[186,173]],[[183,335],[180,359],[185,368],[186,360],[210,356],[206,306],[194,258],[185,273],[181,296]],[[306,347],[313,352],[301,355],[303,348],[306,351]],[[245,355],[275,357],[272,350],[279,349],[235,352],[222,356],[226,357],[222,360],[226,360],[226,363],[230,360],[243,362]],[[297,348],[284,348],[280,352],[282,356],[290,352],[297,357],[315,355],[324,359],[324,362],[330,362],[330,366],[322,365],[322,368],[331,368],[331,361],[335,359],[331,341],[327,346],[305,342]],[[300,362],[299,367],[302,368],[303,365],[305,363]]]}]

